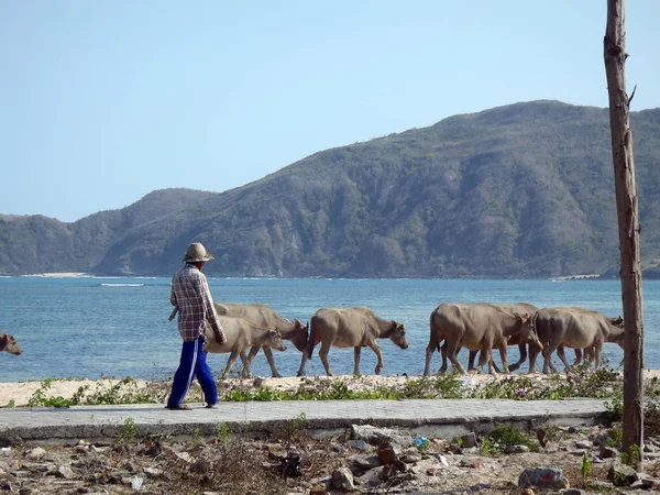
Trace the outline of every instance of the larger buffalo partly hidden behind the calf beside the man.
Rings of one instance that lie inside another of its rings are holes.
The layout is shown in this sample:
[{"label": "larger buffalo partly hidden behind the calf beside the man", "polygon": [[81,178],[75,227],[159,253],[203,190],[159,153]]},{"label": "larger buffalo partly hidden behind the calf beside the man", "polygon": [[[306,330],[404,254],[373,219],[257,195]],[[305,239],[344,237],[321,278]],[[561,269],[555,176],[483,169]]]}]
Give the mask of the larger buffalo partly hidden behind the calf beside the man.
[{"label": "larger buffalo partly hidden behind the calf beside the man", "polygon": [[[305,352],[307,349],[307,331],[309,324],[305,326],[298,319],[289,321],[279,316],[270,306],[262,304],[240,305],[232,302],[213,302],[213,306],[218,315],[243,317],[257,327],[276,328],[282,334],[282,339],[289,340],[298,351]],[[264,354],[268,361],[268,365],[271,366],[271,373],[273,374],[273,377],[282,377],[275,367],[275,360],[273,359],[273,351],[271,350],[270,345],[253,345],[250,350],[250,354],[248,354],[248,360],[250,363],[254,361],[254,356],[258,353],[260,349],[264,350]]]}]

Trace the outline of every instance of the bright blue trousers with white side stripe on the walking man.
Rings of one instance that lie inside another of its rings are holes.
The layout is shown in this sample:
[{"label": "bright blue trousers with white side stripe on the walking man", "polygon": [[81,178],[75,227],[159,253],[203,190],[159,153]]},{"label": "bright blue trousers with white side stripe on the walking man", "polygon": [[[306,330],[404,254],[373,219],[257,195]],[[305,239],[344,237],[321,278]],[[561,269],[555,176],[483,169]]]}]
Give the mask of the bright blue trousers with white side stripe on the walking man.
[{"label": "bright blue trousers with white side stripe on the walking man", "polygon": [[206,362],[204,337],[191,342],[184,342],[182,361],[174,374],[172,394],[167,400],[167,407],[178,406],[184,403],[195,377],[197,377],[201,386],[206,403],[216,404],[218,402],[218,388],[216,388],[216,381]]}]

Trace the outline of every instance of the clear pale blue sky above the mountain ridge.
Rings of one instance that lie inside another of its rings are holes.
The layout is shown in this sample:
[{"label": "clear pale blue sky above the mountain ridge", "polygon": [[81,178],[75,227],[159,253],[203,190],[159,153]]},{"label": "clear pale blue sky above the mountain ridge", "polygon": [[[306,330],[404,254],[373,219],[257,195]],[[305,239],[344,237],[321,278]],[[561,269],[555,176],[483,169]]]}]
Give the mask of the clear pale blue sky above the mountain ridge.
[{"label": "clear pale blue sky above the mountain ridge", "polygon": [[[632,110],[657,108],[660,1],[626,3]],[[2,1],[0,213],[75,221],[155,189],[222,191],[518,101],[607,107],[606,4]]]}]

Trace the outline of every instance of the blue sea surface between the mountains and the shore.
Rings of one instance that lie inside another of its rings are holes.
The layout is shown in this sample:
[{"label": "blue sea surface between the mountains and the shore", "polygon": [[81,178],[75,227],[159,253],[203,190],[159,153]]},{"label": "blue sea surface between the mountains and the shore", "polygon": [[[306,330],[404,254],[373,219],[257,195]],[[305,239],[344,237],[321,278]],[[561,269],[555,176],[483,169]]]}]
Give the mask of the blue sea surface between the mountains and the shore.
[{"label": "blue sea surface between the mountains and the shore", "polygon": [[[582,306],[606,316],[623,315],[618,280],[447,280],[447,279],[286,279],[209,278],[217,302],[263,302],[282,316],[307,322],[323,307],[367,306],[376,315],[405,323],[409,348],[380,340],[384,375],[420,375],[429,339],[429,316],[440,302],[519,302],[538,307]],[[178,365],[182,341],[176,321],[167,321],[170,278],[0,277],[0,332],[12,333],[20,356],[0,353],[0,382],[44,378],[169,378]],[[660,280],[644,283],[645,367],[660,369]],[[318,358],[307,375],[324,375]],[[282,375],[295,376],[301,354],[289,345],[275,351]],[[495,352],[498,362],[498,353]],[[572,359],[572,351],[569,351]],[[518,358],[509,348],[509,362]],[[604,358],[618,367],[622,350],[607,343]],[[459,359],[466,361],[463,350]],[[227,354],[209,354],[213,373]],[[351,374],[353,351],[333,348],[334,374]],[[554,359],[556,365],[559,361]],[[364,349],[362,374],[372,374],[374,353]],[[538,363],[537,363],[538,366]],[[440,367],[433,354],[431,370]],[[240,360],[232,375],[241,369]],[[563,369],[561,366],[560,369]],[[527,370],[525,365],[524,371]],[[260,353],[253,372],[271,376]]]}]

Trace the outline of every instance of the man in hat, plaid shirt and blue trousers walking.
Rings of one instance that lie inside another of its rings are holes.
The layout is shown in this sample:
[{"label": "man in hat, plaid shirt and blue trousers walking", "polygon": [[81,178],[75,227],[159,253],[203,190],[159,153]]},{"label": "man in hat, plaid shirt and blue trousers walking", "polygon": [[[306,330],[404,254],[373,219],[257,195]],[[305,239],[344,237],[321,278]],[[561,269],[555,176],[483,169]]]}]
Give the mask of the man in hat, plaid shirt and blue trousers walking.
[{"label": "man in hat, plaid shirt and blue trousers walking", "polygon": [[187,410],[184,399],[197,376],[208,408],[218,402],[218,389],[206,362],[204,351],[204,328],[208,320],[213,329],[216,341],[224,343],[224,330],[213,309],[213,299],[206,276],[201,273],[205,263],[213,260],[199,242],[190,244],[186,251],[182,270],[172,278],[169,301],[178,308],[178,330],[184,340],[182,360],[174,375],[172,394],[167,409]]}]

